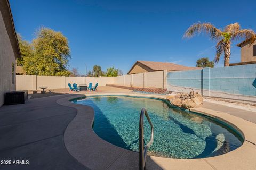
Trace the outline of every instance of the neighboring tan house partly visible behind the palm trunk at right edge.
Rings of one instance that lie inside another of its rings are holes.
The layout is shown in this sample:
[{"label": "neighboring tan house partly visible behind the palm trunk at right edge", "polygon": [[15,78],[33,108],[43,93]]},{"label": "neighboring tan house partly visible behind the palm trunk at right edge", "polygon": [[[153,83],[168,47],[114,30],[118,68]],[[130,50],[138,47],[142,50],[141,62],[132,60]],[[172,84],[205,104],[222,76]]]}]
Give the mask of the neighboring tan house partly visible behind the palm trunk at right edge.
[{"label": "neighboring tan house partly visible behind the palm trunk at right edge", "polygon": [[241,62],[230,63],[230,66],[256,63],[256,41],[252,45],[250,45],[249,40],[250,39],[246,39],[242,43],[236,45],[238,47],[241,47]]}]

